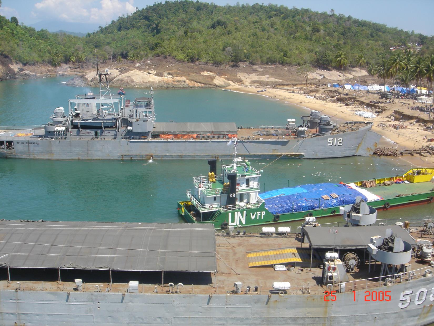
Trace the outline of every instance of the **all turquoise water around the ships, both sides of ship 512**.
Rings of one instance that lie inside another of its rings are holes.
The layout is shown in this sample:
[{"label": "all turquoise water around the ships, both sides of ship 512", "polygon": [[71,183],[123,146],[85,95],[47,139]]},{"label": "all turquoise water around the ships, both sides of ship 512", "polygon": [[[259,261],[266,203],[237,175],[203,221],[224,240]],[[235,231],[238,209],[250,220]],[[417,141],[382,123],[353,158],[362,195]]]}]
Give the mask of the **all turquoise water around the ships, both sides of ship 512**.
[{"label": "all turquoise water around the ships, both sides of ship 512", "polygon": [[[0,83],[0,125],[41,124],[76,93],[68,78]],[[93,89],[96,92],[96,89]],[[126,90],[127,98],[148,90]],[[156,90],[158,121],[234,121],[237,125],[284,123],[306,114],[263,96],[221,90]],[[323,160],[253,160],[264,169],[261,191],[303,183],[363,180],[408,170],[401,160],[349,157]],[[206,160],[49,161],[0,160],[1,218],[64,221],[177,223],[193,176],[208,172]],[[380,212],[378,218],[432,215],[434,205]]]}]

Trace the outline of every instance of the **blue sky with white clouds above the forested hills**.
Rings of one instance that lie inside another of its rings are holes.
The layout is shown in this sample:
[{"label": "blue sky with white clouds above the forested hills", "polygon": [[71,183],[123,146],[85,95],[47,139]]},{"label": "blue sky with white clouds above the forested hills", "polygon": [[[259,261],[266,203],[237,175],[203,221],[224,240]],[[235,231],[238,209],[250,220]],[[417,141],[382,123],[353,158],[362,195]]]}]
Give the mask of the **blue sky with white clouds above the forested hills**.
[{"label": "blue sky with white clouds above the forested hills", "polygon": [[[99,25],[104,26],[117,19],[123,13],[131,13],[135,7],[139,9],[156,1],[149,0],[2,0],[0,14],[10,18],[16,16],[26,25],[49,28],[56,21],[60,27],[70,31],[86,30]],[[234,5],[236,0],[214,0],[218,5]],[[261,3],[260,1],[239,1],[240,3]],[[414,30],[425,35],[434,34],[432,0],[361,0],[361,1],[325,1],[325,0],[274,0],[274,3],[292,8],[310,8],[314,11],[334,9],[335,13],[345,16],[371,20],[390,27],[403,30]],[[56,25],[56,26],[57,26]],[[60,28],[59,28],[60,29]],[[74,29],[74,30],[72,30]]]}]

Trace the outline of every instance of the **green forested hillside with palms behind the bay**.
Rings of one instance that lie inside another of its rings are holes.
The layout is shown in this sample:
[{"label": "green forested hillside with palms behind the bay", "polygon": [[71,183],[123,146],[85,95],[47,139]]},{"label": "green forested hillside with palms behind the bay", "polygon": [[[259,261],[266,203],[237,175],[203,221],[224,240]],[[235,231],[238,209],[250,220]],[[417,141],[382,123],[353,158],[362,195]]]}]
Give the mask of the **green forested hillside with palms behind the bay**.
[{"label": "green forested hillside with palms behind the bay", "polygon": [[[418,51],[416,43],[422,46]],[[0,53],[23,64],[53,66],[94,62],[98,55],[101,61],[118,62],[170,56],[214,65],[247,61],[340,70],[366,67],[372,76],[408,84],[409,80],[430,83],[434,37],[334,10],[319,13],[273,4],[217,6],[184,0],[137,9],[85,37],[36,31],[19,24],[16,17],[0,17]]]}]

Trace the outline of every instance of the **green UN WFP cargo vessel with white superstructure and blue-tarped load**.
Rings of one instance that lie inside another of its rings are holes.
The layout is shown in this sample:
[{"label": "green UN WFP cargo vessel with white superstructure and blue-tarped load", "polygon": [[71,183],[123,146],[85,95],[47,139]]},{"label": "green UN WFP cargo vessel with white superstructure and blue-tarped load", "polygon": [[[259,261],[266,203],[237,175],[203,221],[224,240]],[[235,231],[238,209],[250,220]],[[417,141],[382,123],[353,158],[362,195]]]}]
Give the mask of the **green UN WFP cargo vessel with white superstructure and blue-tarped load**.
[{"label": "green UN WFP cargo vessel with white superstructure and blue-tarped load", "polygon": [[360,198],[377,210],[427,204],[434,198],[432,168],[414,168],[402,176],[308,184],[259,193],[263,171],[237,157],[237,139],[230,143],[234,143],[235,149],[233,163],[222,165],[221,174],[217,174],[217,160],[208,160],[208,175],[194,177],[194,189],[187,190],[188,200],[178,202],[178,213],[187,223],[213,223],[216,228],[226,229],[340,216],[340,207]]}]

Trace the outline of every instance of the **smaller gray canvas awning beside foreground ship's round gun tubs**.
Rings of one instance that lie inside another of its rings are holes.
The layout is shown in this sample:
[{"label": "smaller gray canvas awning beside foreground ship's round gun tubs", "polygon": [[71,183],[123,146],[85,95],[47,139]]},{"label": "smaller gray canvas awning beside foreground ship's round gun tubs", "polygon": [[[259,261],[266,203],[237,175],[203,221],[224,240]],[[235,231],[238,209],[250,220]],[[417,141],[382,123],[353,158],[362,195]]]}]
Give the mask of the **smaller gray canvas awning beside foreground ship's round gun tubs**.
[{"label": "smaller gray canvas awning beside foreground ship's round gun tubs", "polygon": [[[330,230],[336,230],[332,233]],[[351,227],[305,227],[306,234],[312,248],[333,248],[335,249],[365,249],[371,243],[372,236],[385,236],[386,229],[400,236],[414,246],[416,242],[401,226],[351,226]]]}]

